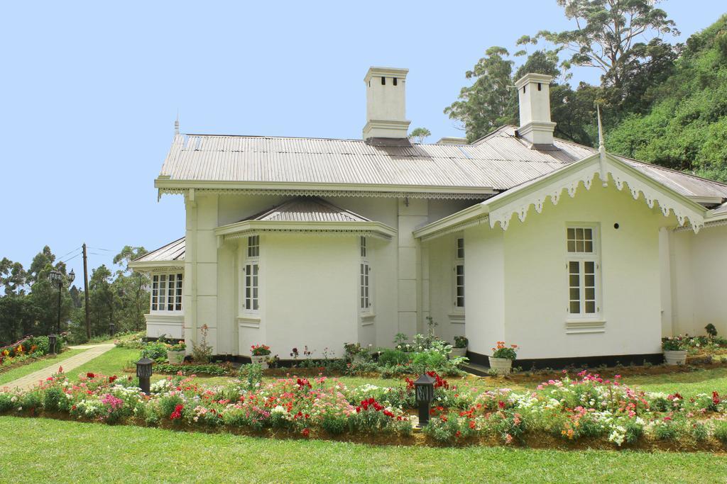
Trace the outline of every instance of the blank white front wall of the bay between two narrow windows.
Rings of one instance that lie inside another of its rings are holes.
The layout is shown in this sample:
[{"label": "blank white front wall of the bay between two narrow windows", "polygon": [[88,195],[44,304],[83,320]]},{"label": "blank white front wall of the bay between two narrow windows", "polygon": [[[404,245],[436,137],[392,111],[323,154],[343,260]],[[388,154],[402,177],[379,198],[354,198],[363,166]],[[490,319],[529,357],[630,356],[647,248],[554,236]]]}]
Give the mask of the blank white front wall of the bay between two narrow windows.
[{"label": "blank white front wall of the bay between two narrow windows", "polygon": [[[358,237],[267,234],[262,243],[265,339],[252,343],[281,358],[305,345],[314,357],[324,348],[342,356],[344,343],[358,340]],[[249,354],[249,345],[240,350]]]}]

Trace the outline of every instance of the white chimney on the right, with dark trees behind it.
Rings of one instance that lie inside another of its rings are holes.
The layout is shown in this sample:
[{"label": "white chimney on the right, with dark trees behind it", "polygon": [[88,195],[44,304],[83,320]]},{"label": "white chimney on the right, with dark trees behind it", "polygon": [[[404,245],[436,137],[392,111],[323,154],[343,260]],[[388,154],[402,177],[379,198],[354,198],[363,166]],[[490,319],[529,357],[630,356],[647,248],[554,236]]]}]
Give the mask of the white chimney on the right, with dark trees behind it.
[{"label": "white chimney on the right, with dark trees behind it", "polygon": [[555,123],[550,120],[550,81],[553,76],[528,73],[515,81],[520,101],[518,136],[531,144],[553,144]]}]

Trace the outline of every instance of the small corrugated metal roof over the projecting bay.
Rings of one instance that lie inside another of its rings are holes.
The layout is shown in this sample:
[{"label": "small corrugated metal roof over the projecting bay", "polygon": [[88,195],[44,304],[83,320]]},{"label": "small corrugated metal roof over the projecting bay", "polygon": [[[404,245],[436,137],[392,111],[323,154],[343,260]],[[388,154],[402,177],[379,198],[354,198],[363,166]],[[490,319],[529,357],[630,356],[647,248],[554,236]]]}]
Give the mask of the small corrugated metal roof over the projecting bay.
[{"label": "small corrugated metal roof over the projecting bay", "polygon": [[318,197],[297,197],[244,220],[267,222],[370,222]]}]

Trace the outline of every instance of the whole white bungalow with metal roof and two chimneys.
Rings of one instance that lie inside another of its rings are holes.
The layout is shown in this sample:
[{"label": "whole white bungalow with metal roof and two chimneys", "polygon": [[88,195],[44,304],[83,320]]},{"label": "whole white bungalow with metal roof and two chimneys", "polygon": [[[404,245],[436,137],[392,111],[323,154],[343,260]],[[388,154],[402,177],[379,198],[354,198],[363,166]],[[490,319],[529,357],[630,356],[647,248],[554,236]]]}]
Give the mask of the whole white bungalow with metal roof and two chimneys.
[{"label": "whole white bungalow with metal roof and two chimneys", "polygon": [[550,77],[516,84],[521,126],[411,144],[406,69],[371,67],[360,140],[175,134],[155,181],[185,237],[134,261],[147,333],[390,346],[466,335],[522,364],[660,358],[662,335],[727,333],[727,185],[555,139]]}]

